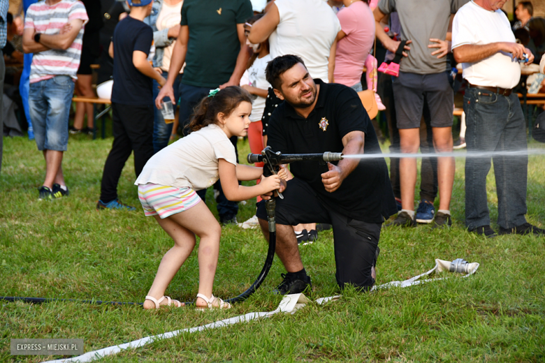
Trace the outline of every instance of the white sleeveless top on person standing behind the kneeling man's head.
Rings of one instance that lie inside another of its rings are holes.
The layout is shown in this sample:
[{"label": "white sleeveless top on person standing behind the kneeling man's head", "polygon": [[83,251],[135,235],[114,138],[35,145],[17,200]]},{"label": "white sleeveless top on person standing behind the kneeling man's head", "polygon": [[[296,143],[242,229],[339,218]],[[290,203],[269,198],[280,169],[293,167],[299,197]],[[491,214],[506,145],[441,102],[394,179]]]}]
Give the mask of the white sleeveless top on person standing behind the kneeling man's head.
[{"label": "white sleeveless top on person standing behind the kneeling man's head", "polygon": [[328,82],[331,45],[340,22],[324,0],[276,0],[280,22],[270,34],[270,56],[295,54],[305,61],[312,78]]}]

